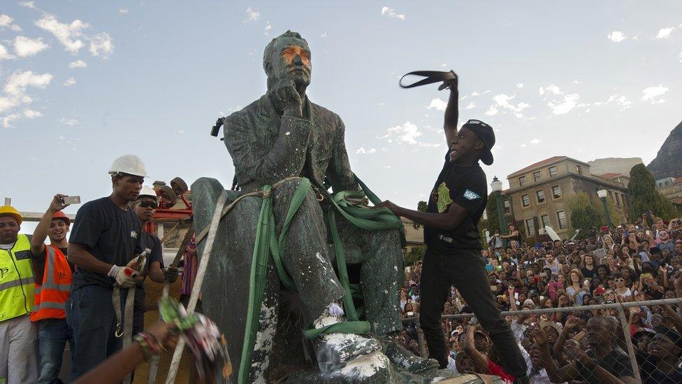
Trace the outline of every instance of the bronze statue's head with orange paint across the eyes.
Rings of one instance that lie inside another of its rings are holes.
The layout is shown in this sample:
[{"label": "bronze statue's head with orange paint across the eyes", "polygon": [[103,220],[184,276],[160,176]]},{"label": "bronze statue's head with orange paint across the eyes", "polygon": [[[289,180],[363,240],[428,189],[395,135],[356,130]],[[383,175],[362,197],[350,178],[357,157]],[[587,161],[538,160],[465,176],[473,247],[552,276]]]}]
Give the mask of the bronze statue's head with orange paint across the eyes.
[{"label": "bronze statue's head with orange paint across the eyes", "polygon": [[296,88],[305,90],[312,73],[310,48],[305,38],[292,31],[273,38],[263,52],[263,69],[268,75],[268,89],[277,80],[289,78],[296,83]]}]

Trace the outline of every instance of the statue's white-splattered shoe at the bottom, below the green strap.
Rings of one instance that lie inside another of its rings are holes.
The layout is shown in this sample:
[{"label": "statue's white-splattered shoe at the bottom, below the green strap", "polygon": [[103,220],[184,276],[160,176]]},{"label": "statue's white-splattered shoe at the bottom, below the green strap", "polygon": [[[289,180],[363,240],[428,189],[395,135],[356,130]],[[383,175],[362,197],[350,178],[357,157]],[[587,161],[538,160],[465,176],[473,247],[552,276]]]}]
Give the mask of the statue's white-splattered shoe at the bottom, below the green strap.
[{"label": "statue's white-splattered shoe at the bottom, below the green strap", "polygon": [[382,349],[379,341],[356,334],[322,334],[314,344],[322,374],[331,374]]}]

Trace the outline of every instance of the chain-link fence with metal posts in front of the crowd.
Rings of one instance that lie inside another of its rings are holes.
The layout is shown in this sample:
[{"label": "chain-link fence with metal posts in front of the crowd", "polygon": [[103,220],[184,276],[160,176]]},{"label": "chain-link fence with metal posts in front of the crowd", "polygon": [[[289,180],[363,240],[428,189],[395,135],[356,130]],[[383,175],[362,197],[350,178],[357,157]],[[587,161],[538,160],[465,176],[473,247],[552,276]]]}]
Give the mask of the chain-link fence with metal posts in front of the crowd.
[{"label": "chain-link fence with metal posts in front of the crowd", "polygon": [[[502,315],[521,346],[531,383],[607,383],[613,378],[624,383],[682,383],[680,311],[682,299],[674,298],[507,311]],[[473,317],[472,313],[442,317],[450,347],[449,368],[460,374],[488,374],[490,371],[476,369],[477,364],[465,364],[467,358],[474,360],[474,355],[499,363],[485,332],[475,332],[474,341],[472,330],[471,341],[467,341],[468,327],[476,327],[470,325]],[[419,316],[402,321],[405,346],[426,357],[428,346]]]}]

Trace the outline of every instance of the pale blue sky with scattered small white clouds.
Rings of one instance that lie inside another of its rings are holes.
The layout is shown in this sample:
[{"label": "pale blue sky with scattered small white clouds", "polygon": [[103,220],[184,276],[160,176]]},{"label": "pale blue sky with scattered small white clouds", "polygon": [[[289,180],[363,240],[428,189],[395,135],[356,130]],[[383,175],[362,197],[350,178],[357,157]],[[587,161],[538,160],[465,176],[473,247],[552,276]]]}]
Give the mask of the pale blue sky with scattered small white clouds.
[{"label": "pale blue sky with scattered small white clouds", "polygon": [[286,29],[310,44],[308,94],[344,120],[354,171],[405,206],[442,166],[448,96],[400,90],[408,71],[459,74],[460,122],[496,130],[489,180],[553,155],[648,164],[682,120],[679,1],[3,1],[0,198],[105,196],[125,153],[150,184],[228,187],[209,129],[263,94],[263,48]]}]

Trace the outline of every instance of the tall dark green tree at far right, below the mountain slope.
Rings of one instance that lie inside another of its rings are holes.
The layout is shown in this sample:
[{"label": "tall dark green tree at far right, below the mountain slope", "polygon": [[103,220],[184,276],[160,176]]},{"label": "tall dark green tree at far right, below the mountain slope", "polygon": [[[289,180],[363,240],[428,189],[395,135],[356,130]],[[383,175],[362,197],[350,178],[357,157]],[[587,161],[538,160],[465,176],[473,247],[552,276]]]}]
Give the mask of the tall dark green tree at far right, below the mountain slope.
[{"label": "tall dark green tree at far right, below the mountain slope", "polygon": [[664,220],[674,218],[676,215],[672,202],[656,190],[656,180],[644,164],[637,164],[630,169],[630,185],[627,187],[627,192],[632,197],[630,222],[635,222],[642,213],[648,211]]}]

